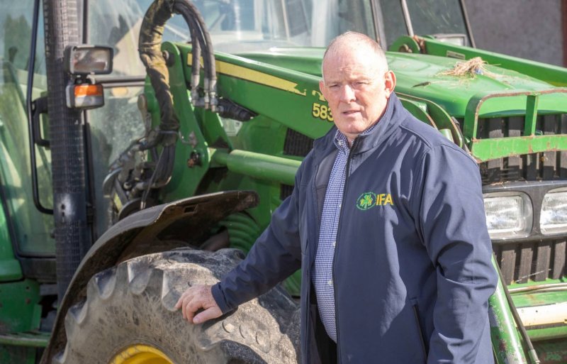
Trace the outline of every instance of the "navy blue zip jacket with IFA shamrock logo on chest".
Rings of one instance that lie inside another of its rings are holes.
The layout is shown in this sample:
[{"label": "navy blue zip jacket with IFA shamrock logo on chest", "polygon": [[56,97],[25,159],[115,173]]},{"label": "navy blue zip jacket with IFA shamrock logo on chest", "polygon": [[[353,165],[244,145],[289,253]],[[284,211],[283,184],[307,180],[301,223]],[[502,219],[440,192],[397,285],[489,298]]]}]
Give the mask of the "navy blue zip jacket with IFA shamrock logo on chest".
[{"label": "navy blue zip jacket with IFA shamrock logo on chest", "polygon": [[[293,193],[213,296],[223,312],[302,268],[303,363],[320,362],[313,261],[337,148],[315,140]],[[490,262],[478,167],[393,94],[354,140],[333,263],[339,363],[493,363]],[[325,337],[322,337],[325,336]]]}]

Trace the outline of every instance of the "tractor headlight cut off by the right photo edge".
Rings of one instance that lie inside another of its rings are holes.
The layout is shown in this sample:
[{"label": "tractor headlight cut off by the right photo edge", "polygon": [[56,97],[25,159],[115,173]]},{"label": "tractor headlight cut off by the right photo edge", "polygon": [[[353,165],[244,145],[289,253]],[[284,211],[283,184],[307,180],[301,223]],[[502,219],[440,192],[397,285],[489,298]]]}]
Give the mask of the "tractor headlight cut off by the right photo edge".
[{"label": "tractor headlight cut off by the right photo edge", "polygon": [[567,189],[556,189],[545,195],[539,228],[544,235],[567,231]]}]

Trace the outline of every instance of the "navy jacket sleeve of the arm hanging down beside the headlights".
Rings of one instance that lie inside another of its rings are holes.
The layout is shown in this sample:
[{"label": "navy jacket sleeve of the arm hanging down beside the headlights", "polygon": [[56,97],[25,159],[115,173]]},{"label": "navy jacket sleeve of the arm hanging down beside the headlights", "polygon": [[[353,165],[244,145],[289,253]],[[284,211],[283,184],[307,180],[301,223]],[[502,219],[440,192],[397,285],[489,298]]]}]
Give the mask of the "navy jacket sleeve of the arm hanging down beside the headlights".
[{"label": "navy jacket sleeve of the arm hanging down beside the headlights", "polygon": [[437,145],[423,156],[415,187],[417,231],[437,270],[427,363],[472,364],[498,282],[478,166],[458,147]]}]

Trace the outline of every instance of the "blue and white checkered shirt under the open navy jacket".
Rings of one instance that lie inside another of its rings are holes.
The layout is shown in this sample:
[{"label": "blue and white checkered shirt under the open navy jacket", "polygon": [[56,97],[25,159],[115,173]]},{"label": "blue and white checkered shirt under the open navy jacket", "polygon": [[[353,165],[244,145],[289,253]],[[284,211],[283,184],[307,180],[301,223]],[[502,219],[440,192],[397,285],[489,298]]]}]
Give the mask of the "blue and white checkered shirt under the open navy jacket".
[{"label": "blue and white checkered shirt under the open navy jacket", "polygon": [[[361,135],[370,133],[374,126],[371,126]],[[339,152],[335,158],[335,163],[332,165],[325,202],[323,203],[319,244],[315,254],[315,269],[313,270],[313,285],[315,286],[321,321],[325,330],[327,330],[327,335],[336,343],[337,322],[335,321],[335,287],[332,281],[332,262],[335,256],[337,228],[350,149],[347,136],[344,136],[338,130],[335,134],[334,143]]]}]

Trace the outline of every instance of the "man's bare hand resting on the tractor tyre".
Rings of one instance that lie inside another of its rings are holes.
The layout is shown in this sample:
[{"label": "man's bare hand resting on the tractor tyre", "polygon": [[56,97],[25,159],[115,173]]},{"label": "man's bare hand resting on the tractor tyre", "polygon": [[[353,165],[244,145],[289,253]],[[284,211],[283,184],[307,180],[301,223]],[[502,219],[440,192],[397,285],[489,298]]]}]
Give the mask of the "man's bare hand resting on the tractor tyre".
[{"label": "man's bare hand resting on the tractor tyre", "polygon": [[[213,298],[210,287],[211,286],[197,285],[189,287],[181,294],[179,301],[175,304],[175,308],[181,308],[183,319],[193,324],[203,324],[203,322],[216,319],[223,314]],[[203,309],[203,311],[195,315],[196,311],[199,309]]]}]

